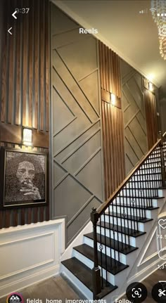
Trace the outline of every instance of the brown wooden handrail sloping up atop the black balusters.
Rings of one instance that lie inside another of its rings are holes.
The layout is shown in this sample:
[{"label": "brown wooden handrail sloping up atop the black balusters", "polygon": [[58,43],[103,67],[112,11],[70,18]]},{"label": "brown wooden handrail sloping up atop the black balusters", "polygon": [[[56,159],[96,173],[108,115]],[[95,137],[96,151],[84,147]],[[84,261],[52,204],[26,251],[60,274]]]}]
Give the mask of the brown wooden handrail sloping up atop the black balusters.
[{"label": "brown wooden handrail sloping up atop the black balusters", "polygon": [[[166,134],[166,131],[165,131],[165,134]],[[165,134],[163,136],[165,136]],[[132,172],[129,173],[129,175],[126,177],[126,179],[124,181],[122,181],[122,183],[120,184],[120,186],[117,187],[116,191],[114,191],[113,194],[110,195],[110,198],[108,198],[106,200],[106,202],[104,202],[101,206],[98,207],[98,209],[96,209],[96,212],[98,213],[98,217],[101,217],[101,214],[103,214],[103,212],[105,212],[105,210],[108,208],[110,202],[116,198],[116,196],[118,195],[118,193],[120,193],[120,191],[122,190],[122,188],[129,181],[129,179],[135,174],[135,172],[139,169],[139,167],[141,167],[141,165],[143,164],[143,162],[148,158],[149,155],[151,155],[151,153],[153,152],[153,150],[155,150],[155,148],[161,143],[161,141],[162,141],[162,139],[159,139],[155,143],[155,145],[151,148],[151,150],[149,150],[148,153],[146,153],[146,155],[144,155],[141,158],[141,160],[138,162],[138,164],[136,165],[136,167],[134,167],[134,169],[132,169]]]}]

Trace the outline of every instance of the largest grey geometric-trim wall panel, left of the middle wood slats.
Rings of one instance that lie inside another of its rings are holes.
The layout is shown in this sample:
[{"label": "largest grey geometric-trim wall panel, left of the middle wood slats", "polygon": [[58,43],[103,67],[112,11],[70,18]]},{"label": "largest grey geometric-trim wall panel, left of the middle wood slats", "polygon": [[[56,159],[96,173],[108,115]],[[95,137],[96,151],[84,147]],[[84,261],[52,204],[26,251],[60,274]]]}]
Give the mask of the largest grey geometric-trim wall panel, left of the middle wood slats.
[{"label": "largest grey geometric-trim wall panel, left of the middle wood slats", "polygon": [[52,4],[51,45],[51,213],[66,217],[70,244],[103,202],[97,43]]}]

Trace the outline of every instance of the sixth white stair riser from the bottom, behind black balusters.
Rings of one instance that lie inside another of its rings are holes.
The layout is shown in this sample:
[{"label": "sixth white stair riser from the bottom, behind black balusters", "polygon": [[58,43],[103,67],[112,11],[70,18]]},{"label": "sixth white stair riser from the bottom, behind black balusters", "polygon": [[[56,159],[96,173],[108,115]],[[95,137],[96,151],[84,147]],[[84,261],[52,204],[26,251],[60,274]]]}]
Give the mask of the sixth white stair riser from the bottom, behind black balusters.
[{"label": "sixth white stair riser from the bottom, behind black balusters", "polygon": [[[131,216],[137,215],[137,217],[146,217],[148,219],[151,219],[151,217],[152,217],[151,212],[154,212],[154,210],[151,211],[151,210],[146,209],[146,211],[144,212],[143,209],[120,207],[119,205],[117,205],[117,207],[116,206],[110,207],[110,212],[115,212],[115,214],[116,213],[120,214],[120,211],[121,211],[121,214],[123,214],[125,212],[125,214],[131,215]],[[145,214],[145,216],[144,216],[144,214]]]}]

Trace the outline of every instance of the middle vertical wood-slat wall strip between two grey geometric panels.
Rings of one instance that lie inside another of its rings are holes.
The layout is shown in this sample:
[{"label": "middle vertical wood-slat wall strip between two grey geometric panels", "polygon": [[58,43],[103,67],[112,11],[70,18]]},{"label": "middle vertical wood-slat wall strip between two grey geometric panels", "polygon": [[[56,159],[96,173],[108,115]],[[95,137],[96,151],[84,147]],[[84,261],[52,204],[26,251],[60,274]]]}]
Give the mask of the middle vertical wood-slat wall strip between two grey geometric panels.
[{"label": "middle vertical wood-slat wall strip between two grey geometric panels", "polygon": [[[121,110],[120,58],[99,42],[103,120],[105,198],[108,199],[125,178],[124,122]],[[110,94],[115,94],[115,105]]]}]

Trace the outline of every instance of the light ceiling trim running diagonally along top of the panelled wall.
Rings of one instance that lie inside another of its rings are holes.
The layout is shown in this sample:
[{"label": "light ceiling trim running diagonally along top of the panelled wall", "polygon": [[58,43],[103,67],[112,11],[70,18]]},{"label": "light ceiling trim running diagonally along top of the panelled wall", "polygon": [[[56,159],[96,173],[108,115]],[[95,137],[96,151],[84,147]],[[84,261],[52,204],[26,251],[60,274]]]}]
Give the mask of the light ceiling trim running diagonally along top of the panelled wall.
[{"label": "light ceiling trim running diagonally along top of the panelled wall", "polygon": [[[81,18],[79,15],[77,15],[76,13],[74,13],[70,8],[68,8],[68,6],[66,6],[63,3],[63,1],[61,1],[61,0],[51,0],[51,1],[53,2],[53,4],[56,4],[56,6],[58,6],[58,8],[60,8],[67,15],[69,15],[70,18],[72,18],[73,20],[75,20],[75,22],[79,23],[79,25],[82,25],[82,27],[84,27],[86,29],[90,29],[91,28],[91,25],[89,25],[88,22],[86,22],[83,18]],[[134,63],[132,60],[130,60],[130,58],[128,58],[127,56],[124,56],[124,54],[121,53],[120,50],[116,49],[113,44],[110,44],[110,41],[108,41],[107,39],[105,39],[102,34],[100,34],[100,33],[93,34],[93,36],[96,39],[101,40],[103,42],[103,44],[106,44],[106,46],[108,46],[110,49],[112,49],[112,51],[115,51],[115,53],[117,53],[117,55],[120,56],[120,58],[122,58],[123,60],[125,60],[132,67],[134,67],[135,70],[137,70],[138,72],[140,72],[141,75],[143,75],[146,78],[148,77],[148,75],[146,75],[139,68],[139,66],[136,65],[136,63]],[[160,87],[160,84],[158,84],[158,82],[156,81],[156,79],[153,79],[153,84],[155,84],[155,86],[157,86],[158,88]]]}]

